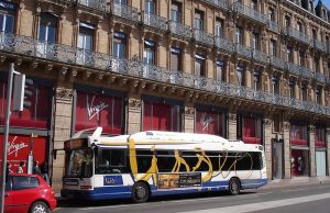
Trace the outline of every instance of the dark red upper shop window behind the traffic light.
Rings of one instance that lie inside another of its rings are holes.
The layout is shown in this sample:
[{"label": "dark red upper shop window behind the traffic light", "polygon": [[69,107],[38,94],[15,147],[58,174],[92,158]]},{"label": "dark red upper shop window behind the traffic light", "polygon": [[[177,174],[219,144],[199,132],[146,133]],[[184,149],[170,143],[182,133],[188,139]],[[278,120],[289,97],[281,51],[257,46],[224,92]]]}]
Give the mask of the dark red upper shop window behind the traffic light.
[{"label": "dark red upper shop window behind the traffic light", "polygon": [[[50,121],[51,88],[35,85],[33,86],[33,96],[30,97],[32,105],[22,112],[13,112],[10,117],[12,127],[32,127],[45,130]],[[4,115],[7,108],[7,83],[0,82],[0,125],[4,125]]]}]

